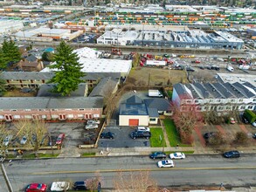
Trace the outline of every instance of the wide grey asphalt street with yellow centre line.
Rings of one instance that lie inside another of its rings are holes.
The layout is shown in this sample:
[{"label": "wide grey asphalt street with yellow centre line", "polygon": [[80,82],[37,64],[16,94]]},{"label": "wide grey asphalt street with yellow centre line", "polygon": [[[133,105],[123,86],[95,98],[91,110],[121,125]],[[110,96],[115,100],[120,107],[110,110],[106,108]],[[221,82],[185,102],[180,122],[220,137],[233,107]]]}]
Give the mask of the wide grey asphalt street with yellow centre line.
[{"label": "wide grey asphalt street with yellow centre line", "polygon": [[[112,189],[117,173],[122,170],[149,170],[159,186],[204,185],[254,186],[256,179],[256,154],[242,154],[239,159],[225,159],[220,154],[187,155],[176,160],[175,168],[157,168],[157,160],[147,156],[100,158],[65,158],[49,160],[6,161],[4,166],[14,191],[22,191],[31,182],[84,181],[95,172],[102,176],[102,188]],[[7,191],[0,176],[0,191]],[[203,184],[202,184],[203,183]]]}]

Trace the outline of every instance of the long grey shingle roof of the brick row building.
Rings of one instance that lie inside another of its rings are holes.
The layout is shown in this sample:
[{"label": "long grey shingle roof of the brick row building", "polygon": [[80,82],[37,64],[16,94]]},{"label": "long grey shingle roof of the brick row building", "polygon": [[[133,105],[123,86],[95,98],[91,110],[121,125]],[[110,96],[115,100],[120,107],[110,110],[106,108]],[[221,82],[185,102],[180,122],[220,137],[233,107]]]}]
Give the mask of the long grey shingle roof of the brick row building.
[{"label": "long grey shingle roof of the brick row building", "polygon": [[0,109],[73,109],[102,108],[102,97],[47,98],[47,97],[10,97],[0,98]]}]

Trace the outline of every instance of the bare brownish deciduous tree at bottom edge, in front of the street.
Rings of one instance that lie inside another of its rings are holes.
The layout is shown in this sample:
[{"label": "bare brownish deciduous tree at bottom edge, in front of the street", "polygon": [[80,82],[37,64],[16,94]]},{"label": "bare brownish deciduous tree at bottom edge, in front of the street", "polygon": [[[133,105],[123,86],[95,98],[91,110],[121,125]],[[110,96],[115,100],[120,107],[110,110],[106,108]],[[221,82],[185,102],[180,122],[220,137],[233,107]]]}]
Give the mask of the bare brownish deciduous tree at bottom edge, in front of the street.
[{"label": "bare brownish deciduous tree at bottom edge, in front of the street", "polygon": [[114,178],[114,189],[122,192],[156,192],[157,184],[156,181],[150,177],[148,170],[128,172],[128,174],[120,170],[116,178]]}]

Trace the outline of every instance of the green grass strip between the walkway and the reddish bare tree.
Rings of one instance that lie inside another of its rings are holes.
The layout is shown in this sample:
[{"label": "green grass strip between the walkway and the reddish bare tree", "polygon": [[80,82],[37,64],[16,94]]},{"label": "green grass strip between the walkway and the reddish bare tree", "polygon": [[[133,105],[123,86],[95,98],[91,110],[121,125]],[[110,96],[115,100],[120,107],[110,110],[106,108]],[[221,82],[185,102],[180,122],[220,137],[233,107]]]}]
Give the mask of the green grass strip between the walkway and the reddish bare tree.
[{"label": "green grass strip between the walkway and the reddish bare tree", "polygon": [[183,144],[180,140],[180,136],[176,130],[176,126],[173,120],[165,119],[163,120],[166,134],[168,136],[168,140],[170,142],[171,147],[176,147],[176,144],[179,144],[180,147],[190,147],[190,145]]}]

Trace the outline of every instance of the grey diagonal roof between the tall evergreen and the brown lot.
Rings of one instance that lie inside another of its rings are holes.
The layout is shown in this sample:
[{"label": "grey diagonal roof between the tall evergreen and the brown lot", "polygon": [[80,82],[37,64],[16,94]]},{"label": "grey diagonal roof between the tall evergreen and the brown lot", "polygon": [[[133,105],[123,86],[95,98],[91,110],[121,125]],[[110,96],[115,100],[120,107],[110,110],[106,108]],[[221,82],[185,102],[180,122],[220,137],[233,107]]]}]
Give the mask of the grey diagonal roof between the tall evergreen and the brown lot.
[{"label": "grey diagonal roof between the tall evergreen and the brown lot", "polygon": [[114,92],[118,81],[111,77],[100,79],[97,86],[93,88],[93,91],[89,94],[89,97],[101,96],[107,97]]}]

